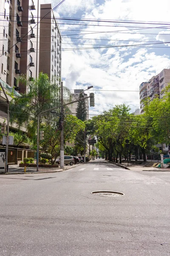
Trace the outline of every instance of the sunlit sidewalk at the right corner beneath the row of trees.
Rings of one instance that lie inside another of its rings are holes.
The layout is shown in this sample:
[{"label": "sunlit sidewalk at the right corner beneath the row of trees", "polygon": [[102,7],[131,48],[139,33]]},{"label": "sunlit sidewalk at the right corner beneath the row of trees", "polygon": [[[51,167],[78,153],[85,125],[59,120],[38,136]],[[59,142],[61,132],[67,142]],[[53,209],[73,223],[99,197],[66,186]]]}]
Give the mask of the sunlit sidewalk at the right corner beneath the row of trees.
[{"label": "sunlit sidewalk at the right corner beneath the row of trees", "polygon": [[[112,162],[109,162],[112,163]],[[113,163],[114,165],[123,167],[125,169],[131,170],[131,171],[154,171],[154,172],[170,172],[170,168],[156,168],[156,167],[145,167],[145,166],[139,166],[132,163],[129,163],[129,166],[127,166],[127,163]]]}]

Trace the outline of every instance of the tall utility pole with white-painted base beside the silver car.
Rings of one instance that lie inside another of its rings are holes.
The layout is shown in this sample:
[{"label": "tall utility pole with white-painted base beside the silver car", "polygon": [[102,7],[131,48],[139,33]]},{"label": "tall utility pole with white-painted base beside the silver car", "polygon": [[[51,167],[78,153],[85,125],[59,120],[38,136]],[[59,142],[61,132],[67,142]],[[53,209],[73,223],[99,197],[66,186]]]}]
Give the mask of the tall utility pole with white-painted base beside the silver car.
[{"label": "tall utility pole with white-painted base beside the silver car", "polygon": [[64,169],[64,115],[63,115],[63,84],[61,82],[61,133],[60,133],[60,168]]}]

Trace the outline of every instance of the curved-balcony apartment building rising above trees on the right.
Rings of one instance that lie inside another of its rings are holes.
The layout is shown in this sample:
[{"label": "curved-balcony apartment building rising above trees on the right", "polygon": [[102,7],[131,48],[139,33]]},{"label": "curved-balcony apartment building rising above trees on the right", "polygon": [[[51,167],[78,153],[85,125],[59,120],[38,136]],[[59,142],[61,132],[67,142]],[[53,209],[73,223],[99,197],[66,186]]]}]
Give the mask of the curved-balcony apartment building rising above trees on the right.
[{"label": "curved-balcony apartment building rising above trees on the right", "polygon": [[143,99],[150,97],[150,101],[164,96],[163,89],[170,83],[170,69],[163,69],[158,75],[153,76],[148,82],[140,84],[140,113],[144,112]]}]

